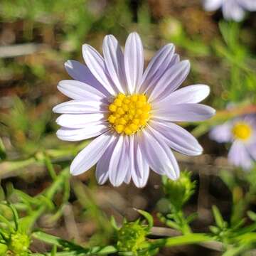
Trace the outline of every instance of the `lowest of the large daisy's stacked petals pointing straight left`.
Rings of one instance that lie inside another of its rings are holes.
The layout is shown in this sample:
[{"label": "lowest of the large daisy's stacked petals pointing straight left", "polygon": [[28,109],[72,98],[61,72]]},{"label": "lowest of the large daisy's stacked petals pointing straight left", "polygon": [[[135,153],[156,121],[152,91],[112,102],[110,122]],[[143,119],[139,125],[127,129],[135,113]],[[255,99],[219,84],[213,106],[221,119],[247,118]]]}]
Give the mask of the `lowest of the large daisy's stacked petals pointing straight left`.
[{"label": "lowest of the large daisy's stacked petals pointing straight left", "polygon": [[110,129],[107,123],[91,123],[82,129],[70,129],[62,127],[57,131],[57,137],[63,141],[78,142],[84,139],[97,137]]}]

